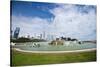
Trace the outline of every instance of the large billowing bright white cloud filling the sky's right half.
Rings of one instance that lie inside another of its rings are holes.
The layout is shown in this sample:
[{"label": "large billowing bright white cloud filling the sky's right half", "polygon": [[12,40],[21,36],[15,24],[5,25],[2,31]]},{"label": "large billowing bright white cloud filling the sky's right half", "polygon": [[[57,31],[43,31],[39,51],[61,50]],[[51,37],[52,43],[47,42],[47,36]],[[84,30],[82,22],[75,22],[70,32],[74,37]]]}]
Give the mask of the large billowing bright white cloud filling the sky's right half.
[{"label": "large billowing bright white cloud filling the sky's right half", "polygon": [[94,11],[91,10],[83,14],[77,10],[75,5],[62,5],[51,10],[51,13],[55,15],[53,24],[56,31],[61,33],[59,35],[64,34],[68,37],[88,40],[96,38],[96,33],[91,35],[96,30],[96,15]]}]

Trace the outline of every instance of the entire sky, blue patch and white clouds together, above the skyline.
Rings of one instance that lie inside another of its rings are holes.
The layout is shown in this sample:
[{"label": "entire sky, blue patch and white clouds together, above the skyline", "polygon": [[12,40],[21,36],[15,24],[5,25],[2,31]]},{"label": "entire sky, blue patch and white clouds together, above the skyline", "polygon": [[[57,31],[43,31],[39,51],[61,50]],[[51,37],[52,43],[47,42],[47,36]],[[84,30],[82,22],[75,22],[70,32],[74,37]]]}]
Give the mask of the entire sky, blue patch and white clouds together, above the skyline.
[{"label": "entire sky, blue patch and white clouds together, above the skyline", "polygon": [[20,36],[34,36],[45,31],[56,37],[96,39],[95,5],[24,1],[12,1],[11,4],[12,30],[20,27]]}]

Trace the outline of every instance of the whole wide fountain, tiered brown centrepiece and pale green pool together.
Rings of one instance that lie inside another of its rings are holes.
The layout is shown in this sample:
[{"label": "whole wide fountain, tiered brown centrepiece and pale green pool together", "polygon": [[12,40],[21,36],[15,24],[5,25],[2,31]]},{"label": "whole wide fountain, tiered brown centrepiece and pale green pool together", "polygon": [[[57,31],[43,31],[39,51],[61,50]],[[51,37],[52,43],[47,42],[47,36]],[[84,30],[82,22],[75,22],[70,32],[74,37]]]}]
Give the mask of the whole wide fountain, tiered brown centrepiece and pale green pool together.
[{"label": "whole wide fountain, tiered brown centrepiece and pale green pool together", "polygon": [[83,42],[76,39],[67,40],[59,39],[45,42],[24,42],[24,43],[13,43],[11,42],[12,48],[24,51],[24,52],[69,52],[69,51],[82,51],[96,49],[95,42]]}]

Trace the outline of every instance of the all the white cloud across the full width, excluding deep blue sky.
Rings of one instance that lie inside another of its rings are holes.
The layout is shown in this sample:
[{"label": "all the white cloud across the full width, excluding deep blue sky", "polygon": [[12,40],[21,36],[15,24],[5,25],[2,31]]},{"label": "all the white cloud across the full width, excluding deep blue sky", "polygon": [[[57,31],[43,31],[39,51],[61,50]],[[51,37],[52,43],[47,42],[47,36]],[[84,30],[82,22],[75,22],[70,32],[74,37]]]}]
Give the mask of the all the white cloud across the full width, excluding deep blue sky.
[{"label": "all the white cloud across the full width, excluding deep blue sky", "polygon": [[[84,9],[86,9],[84,7]],[[20,27],[20,35],[42,33],[66,36],[81,40],[96,38],[96,15],[94,10],[81,13],[75,5],[60,5],[50,12],[55,16],[52,22],[39,17],[12,16],[12,28]],[[91,35],[92,34],[92,35]]]}]

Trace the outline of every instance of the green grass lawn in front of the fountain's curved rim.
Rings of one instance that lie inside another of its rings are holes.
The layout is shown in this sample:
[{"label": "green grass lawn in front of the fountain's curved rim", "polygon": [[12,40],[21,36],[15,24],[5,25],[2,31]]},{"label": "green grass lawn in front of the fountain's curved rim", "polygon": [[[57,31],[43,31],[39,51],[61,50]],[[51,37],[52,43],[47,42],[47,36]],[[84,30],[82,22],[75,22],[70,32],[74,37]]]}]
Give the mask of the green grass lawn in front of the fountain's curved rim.
[{"label": "green grass lawn in front of the fountain's curved rim", "polygon": [[78,53],[25,53],[12,50],[11,66],[96,61],[96,51]]}]

